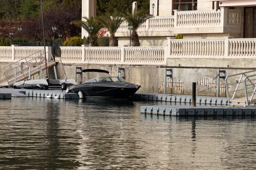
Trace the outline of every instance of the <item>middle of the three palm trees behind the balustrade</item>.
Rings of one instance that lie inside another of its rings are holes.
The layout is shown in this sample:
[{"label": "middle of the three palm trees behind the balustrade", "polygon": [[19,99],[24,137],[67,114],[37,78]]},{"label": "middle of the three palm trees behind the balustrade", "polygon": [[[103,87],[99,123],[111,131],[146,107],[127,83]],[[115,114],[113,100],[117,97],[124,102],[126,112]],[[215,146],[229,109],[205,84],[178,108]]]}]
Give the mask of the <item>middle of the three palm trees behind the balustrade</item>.
[{"label": "middle of the three palm trees behind the balustrade", "polygon": [[99,21],[110,32],[110,47],[116,46],[115,33],[124,19],[118,16],[116,12],[112,16],[107,12],[99,18]]}]

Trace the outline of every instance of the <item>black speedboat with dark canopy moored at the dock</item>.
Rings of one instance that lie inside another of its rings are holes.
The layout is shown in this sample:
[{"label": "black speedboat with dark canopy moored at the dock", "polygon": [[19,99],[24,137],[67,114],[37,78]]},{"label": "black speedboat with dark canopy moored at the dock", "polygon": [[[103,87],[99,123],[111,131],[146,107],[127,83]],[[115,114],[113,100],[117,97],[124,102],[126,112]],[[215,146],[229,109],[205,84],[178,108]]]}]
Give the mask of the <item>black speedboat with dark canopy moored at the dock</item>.
[{"label": "black speedboat with dark canopy moored at the dock", "polygon": [[[104,72],[102,69],[84,69],[82,72]],[[69,92],[82,92],[85,98],[130,99],[140,88],[140,85],[128,83],[120,77],[93,78],[81,85],[69,87]]]}]

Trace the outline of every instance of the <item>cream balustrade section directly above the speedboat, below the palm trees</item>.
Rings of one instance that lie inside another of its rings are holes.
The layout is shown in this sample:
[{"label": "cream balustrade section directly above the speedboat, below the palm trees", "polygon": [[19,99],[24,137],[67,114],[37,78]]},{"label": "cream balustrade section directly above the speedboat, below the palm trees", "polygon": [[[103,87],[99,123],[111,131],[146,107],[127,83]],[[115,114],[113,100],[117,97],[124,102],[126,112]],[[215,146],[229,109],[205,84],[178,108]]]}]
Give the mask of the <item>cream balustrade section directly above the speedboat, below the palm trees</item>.
[{"label": "cream balustrade section directly above the speedboat, below the palm trees", "polygon": [[60,47],[62,63],[166,65],[165,47]]}]

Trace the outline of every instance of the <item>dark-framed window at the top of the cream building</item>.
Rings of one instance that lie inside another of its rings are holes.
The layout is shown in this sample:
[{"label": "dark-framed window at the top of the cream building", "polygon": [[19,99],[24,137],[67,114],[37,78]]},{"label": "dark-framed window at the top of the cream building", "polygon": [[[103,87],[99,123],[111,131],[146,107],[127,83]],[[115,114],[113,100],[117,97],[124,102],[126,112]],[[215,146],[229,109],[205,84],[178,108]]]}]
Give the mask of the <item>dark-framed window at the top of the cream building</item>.
[{"label": "dark-framed window at the top of the cream building", "polygon": [[181,11],[197,10],[197,0],[173,0],[173,9]]}]

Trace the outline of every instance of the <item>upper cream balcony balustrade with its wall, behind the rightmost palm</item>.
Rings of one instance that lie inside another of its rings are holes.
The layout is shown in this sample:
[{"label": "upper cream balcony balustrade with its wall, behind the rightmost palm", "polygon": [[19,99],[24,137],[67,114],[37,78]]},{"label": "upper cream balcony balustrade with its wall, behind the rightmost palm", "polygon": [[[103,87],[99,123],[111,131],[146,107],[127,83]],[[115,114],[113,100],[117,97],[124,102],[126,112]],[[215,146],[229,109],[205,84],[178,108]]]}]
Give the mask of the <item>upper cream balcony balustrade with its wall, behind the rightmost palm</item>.
[{"label": "upper cream balcony balustrade with its wall, behind the rightmost palm", "polygon": [[[229,28],[241,27],[239,9],[221,8],[211,11],[174,11],[174,16],[152,17],[146,20],[137,30],[142,36],[198,33],[224,33]],[[124,21],[117,30],[117,36],[128,36],[128,23]],[[237,30],[235,30],[237,31]]]}]

